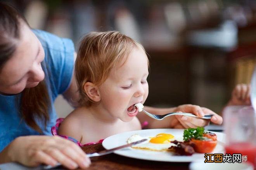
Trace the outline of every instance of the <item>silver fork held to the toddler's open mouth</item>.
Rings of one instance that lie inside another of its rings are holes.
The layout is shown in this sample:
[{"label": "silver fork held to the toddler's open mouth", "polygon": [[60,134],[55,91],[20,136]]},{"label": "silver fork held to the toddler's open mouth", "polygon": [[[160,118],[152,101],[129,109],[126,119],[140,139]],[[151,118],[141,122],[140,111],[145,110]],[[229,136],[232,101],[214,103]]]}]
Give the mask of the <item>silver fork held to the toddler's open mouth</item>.
[{"label": "silver fork held to the toddler's open mouth", "polygon": [[[153,119],[156,119],[156,120],[163,120],[165,117],[168,117],[168,116],[173,116],[173,115],[183,115],[183,116],[191,116],[191,117],[197,117],[195,116],[194,114],[192,113],[179,113],[179,112],[171,112],[171,113],[168,113],[168,114],[164,114],[164,115],[157,115],[157,114],[151,114],[149,112],[147,112],[146,110],[142,109],[142,111],[147,114],[147,116],[149,117],[152,117]],[[200,119],[211,119],[211,117],[213,116],[213,114],[209,114],[209,115],[204,115],[203,117],[197,117],[197,118],[200,118]]]}]

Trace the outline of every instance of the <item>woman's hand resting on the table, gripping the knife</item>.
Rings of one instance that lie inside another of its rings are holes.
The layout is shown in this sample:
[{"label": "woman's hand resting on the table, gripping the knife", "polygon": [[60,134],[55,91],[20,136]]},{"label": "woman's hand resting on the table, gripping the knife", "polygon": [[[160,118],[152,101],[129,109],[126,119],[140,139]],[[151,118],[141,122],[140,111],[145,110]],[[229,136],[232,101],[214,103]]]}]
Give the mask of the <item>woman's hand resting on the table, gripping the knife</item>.
[{"label": "woman's hand resting on the table, gripping the knife", "polygon": [[57,162],[70,169],[90,165],[90,159],[79,146],[58,136],[18,137],[0,153],[0,157],[8,157],[6,162],[19,162],[29,167],[41,163],[54,166]]}]

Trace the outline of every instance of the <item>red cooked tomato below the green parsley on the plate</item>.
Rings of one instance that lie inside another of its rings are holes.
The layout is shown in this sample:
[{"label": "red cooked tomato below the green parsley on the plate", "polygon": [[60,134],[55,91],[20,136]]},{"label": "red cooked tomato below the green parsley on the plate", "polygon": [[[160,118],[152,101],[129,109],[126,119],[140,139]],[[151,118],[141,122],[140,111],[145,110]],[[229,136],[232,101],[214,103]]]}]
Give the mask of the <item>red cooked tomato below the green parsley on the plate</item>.
[{"label": "red cooked tomato below the green parsley on the plate", "polygon": [[199,140],[191,139],[195,144],[194,149],[198,153],[211,153],[217,145],[217,140]]}]

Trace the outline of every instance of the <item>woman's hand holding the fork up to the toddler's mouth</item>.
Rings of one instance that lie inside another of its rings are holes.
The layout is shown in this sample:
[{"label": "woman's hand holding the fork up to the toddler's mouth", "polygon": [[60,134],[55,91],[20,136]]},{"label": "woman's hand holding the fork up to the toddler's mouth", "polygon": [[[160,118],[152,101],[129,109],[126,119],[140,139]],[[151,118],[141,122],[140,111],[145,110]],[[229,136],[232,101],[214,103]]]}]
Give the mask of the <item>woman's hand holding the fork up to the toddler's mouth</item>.
[{"label": "woman's hand holding the fork up to the toddler's mouth", "polygon": [[[211,122],[214,124],[222,124],[222,117],[218,114],[214,113],[212,110],[207,109],[205,107],[200,107],[198,105],[191,105],[191,104],[185,104],[180,105],[174,109],[174,112],[187,112],[195,114],[198,117],[203,117],[205,114],[214,114],[213,117],[211,117]],[[206,119],[199,119],[196,117],[190,117],[190,116],[180,116],[175,115],[177,121],[174,122],[173,127],[174,128],[196,128],[198,126],[204,127],[209,124],[209,121]]]}]

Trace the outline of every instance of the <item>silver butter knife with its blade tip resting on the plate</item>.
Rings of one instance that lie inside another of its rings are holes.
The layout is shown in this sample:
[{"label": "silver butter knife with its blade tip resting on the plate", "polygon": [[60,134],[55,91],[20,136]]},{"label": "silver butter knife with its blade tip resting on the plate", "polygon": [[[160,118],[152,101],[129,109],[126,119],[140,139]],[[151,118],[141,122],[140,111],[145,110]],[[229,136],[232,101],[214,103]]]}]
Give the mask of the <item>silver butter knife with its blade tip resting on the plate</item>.
[{"label": "silver butter knife with its blade tip resting on the plate", "polygon": [[[95,153],[88,153],[86,154],[89,158],[90,157],[93,157],[93,156],[102,156],[102,155],[107,155],[109,153],[113,153],[114,151],[116,150],[119,150],[119,149],[122,149],[122,148],[127,148],[127,147],[130,147],[132,145],[136,145],[138,143],[142,143],[144,141],[146,141],[147,139],[142,139],[142,140],[139,140],[139,141],[136,141],[136,142],[132,142],[132,143],[129,143],[129,144],[126,144],[126,145],[122,145],[122,146],[118,146],[116,148],[112,148],[110,150],[103,150],[103,151],[99,151],[99,152],[95,152]],[[57,168],[61,166],[61,163],[57,163],[55,166],[51,166],[51,165],[45,165],[43,166],[43,169],[51,169],[51,168]]]}]

